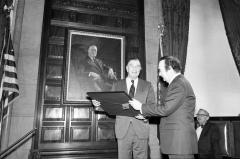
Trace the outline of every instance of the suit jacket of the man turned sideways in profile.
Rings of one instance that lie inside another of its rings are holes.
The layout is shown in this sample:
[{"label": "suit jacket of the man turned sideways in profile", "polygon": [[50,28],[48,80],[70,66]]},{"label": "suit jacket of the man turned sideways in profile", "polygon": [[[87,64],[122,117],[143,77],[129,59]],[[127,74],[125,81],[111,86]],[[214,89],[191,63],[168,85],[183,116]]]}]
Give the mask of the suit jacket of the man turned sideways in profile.
[{"label": "suit jacket of the man turned sideways in profile", "polygon": [[162,116],[160,145],[164,154],[196,154],[197,135],[194,128],[195,95],[183,75],[169,84],[160,105],[143,104],[142,113]]}]

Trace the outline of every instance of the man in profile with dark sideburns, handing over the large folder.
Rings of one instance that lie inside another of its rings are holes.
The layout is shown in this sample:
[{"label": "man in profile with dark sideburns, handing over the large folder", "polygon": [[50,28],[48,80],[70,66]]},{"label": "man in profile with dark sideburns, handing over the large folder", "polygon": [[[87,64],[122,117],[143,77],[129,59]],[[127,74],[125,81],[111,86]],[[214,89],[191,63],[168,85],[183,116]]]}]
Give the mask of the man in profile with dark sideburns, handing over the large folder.
[{"label": "man in profile with dark sideburns, handing over the large folder", "polygon": [[170,159],[193,159],[198,151],[193,89],[181,74],[181,63],[175,57],[164,56],[160,59],[159,76],[169,84],[163,102],[157,105],[133,99],[129,103],[144,116],[162,117],[160,147],[163,154]]}]

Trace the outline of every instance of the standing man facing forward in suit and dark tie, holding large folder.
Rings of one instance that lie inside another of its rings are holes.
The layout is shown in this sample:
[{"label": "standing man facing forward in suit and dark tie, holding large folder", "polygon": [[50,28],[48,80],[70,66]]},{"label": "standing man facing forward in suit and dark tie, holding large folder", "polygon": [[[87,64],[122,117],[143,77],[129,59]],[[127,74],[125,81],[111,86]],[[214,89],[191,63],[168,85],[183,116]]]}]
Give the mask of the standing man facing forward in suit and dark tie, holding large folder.
[{"label": "standing man facing forward in suit and dark tie, holding large folder", "polygon": [[[138,78],[141,71],[139,59],[130,59],[126,70],[127,78],[114,83],[112,90],[125,91],[142,103],[155,103],[151,83]],[[101,104],[95,100],[92,102],[94,106]],[[116,116],[115,133],[118,141],[118,159],[147,159],[149,123],[141,115],[137,118]]]}]

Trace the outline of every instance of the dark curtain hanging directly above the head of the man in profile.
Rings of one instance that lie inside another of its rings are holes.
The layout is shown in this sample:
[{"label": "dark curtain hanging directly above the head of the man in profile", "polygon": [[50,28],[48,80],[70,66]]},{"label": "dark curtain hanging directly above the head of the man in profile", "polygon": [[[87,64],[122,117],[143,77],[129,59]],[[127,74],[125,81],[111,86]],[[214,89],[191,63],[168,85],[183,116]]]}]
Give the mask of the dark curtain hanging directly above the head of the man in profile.
[{"label": "dark curtain hanging directly above the head of the man in profile", "polygon": [[190,0],[163,0],[162,11],[164,20],[163,55],[179,58],[182,63],[182,73],[185,70]]}]

